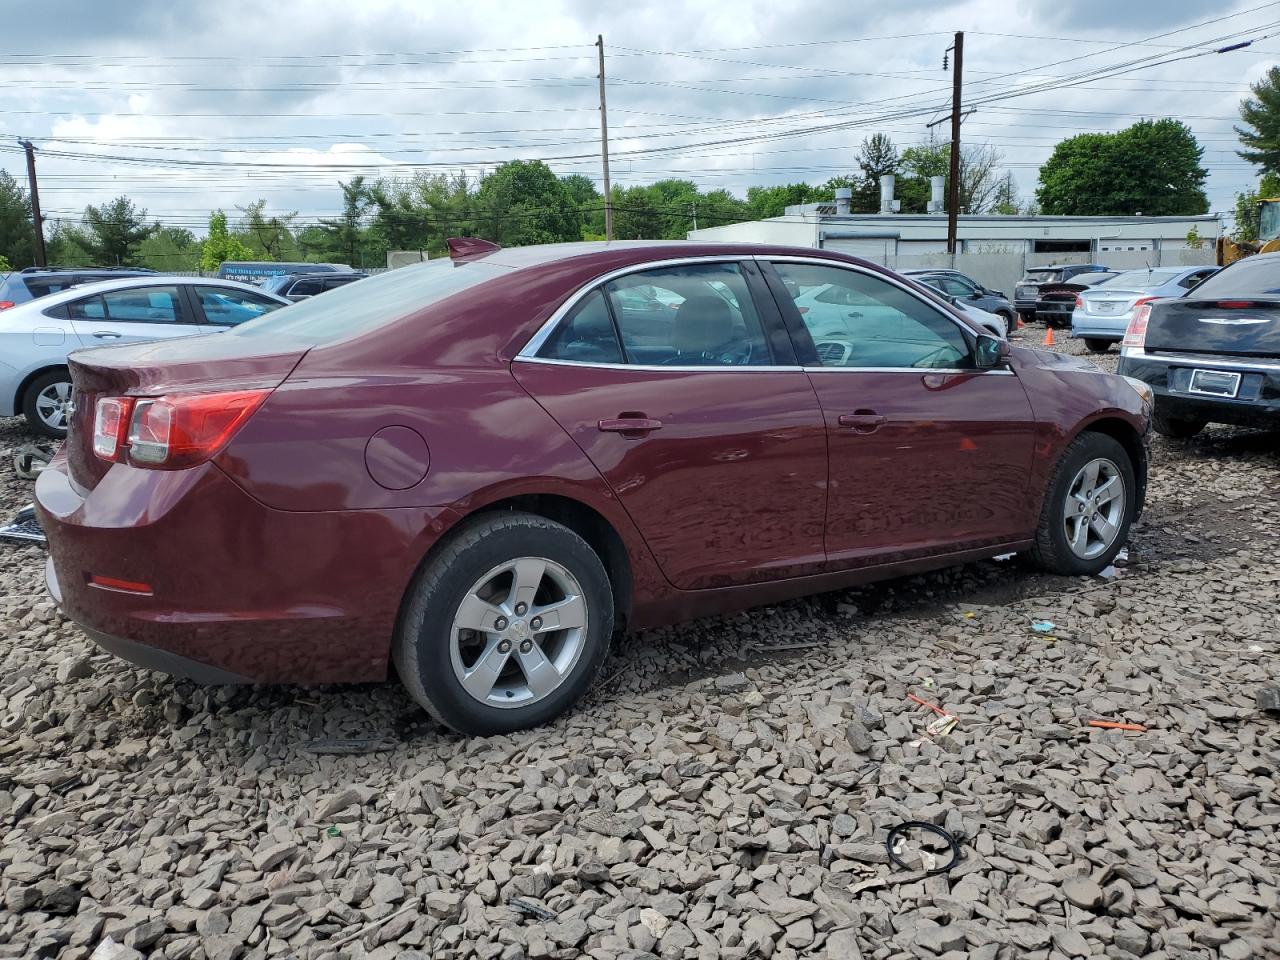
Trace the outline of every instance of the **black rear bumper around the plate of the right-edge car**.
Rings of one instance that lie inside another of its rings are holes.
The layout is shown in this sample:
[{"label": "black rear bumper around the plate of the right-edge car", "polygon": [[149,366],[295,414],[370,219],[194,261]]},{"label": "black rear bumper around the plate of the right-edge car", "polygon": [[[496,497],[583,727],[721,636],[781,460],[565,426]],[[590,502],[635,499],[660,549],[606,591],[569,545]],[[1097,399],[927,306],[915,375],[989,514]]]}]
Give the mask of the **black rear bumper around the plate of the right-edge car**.
[{"label": "black rear bumper around the plate of the right-edge car", "polygon": [[[1190,392],[1196,370],[1226,370],[1240,374],[1235,398]],[[1224,356],[1147,353],[1126,348],[1117,374],[1151,384],[1156,412],[1181,420],[1271,428],[1280,424],[1280,360],[1242,360]]]}]

